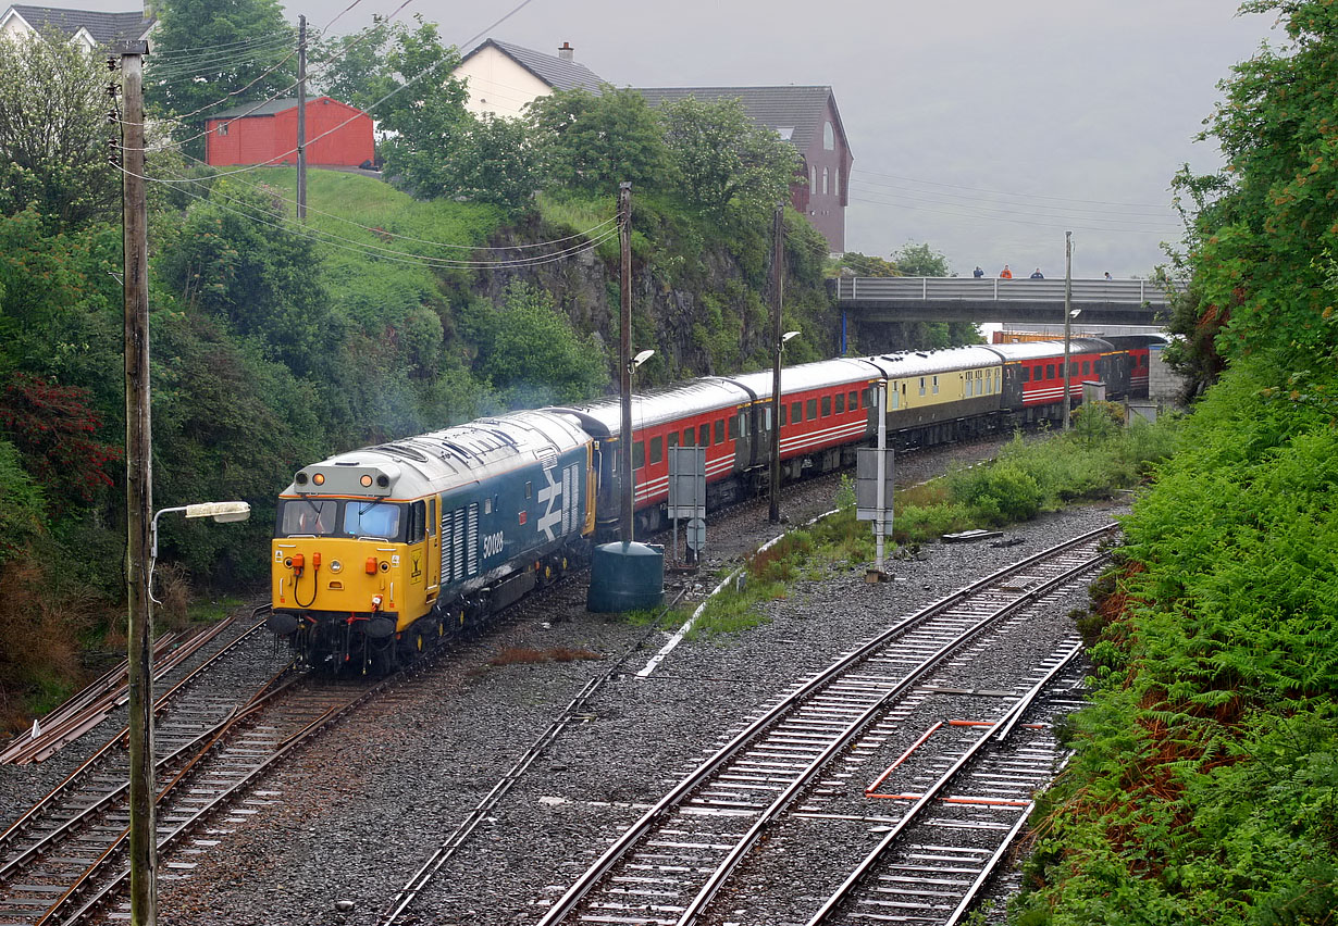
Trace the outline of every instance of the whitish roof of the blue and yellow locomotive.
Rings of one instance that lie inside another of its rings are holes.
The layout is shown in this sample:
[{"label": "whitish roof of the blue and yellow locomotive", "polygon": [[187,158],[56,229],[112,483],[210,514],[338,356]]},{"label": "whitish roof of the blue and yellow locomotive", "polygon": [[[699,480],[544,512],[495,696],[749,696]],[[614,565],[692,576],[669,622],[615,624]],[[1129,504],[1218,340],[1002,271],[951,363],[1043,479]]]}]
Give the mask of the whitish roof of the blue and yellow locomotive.
[{"label": "whitish roof of the blue and yellow locomotive", "polygon": [[[555,464],[558,456],[583,446],[581,428],[547,412],[514,412],[480,418],[444,430],[339,453],[304,466],[282,493],[352,494],[416,498],[537,462]],[[320,473],[322,485],[316,485]],[[372,476],[371,486],[359,484]],[[379,482],[379,477],[387,477]]]}]

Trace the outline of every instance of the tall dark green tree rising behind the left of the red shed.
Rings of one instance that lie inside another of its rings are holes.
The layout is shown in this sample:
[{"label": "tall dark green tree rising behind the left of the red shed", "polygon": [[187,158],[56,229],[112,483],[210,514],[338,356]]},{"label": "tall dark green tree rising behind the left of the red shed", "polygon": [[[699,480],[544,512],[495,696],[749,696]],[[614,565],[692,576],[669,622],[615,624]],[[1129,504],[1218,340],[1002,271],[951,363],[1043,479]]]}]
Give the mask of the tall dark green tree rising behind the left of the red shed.
[{"label": "tall dark green tree rising behind the left of the red shed", "polygon": [[177,120],[173,135],[194,158],[211,112],[296,96],[297,35],[278,0],[163,0],[155,4],[145,100]]}]

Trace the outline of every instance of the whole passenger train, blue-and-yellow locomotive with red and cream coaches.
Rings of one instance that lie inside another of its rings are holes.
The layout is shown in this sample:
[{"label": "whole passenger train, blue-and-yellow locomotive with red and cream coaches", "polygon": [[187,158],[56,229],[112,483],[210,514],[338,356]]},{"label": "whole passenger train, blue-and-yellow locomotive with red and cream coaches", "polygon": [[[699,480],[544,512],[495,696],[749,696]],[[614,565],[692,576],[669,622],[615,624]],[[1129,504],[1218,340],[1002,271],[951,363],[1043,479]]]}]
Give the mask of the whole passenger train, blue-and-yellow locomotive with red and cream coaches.
[{"label": "whole passenger train, blue-and-yellow locomotive with red and cream coaches", "polygon": [[[772,374],[704,377],[633,398],[641,529],[664,524],[668,450],[706,450],[706,508],[768,485],[771,429],[781,476],[851,465],[876,433],[899,449],[1060,421],[1064,390],[1147,396],[1148,345],[1070,339],[838,358]],[[341,453],[302,468],[278,500],[269,627],[309,665],[385,672],[468,627],[617,532],[619,406],[516,412]]]}]

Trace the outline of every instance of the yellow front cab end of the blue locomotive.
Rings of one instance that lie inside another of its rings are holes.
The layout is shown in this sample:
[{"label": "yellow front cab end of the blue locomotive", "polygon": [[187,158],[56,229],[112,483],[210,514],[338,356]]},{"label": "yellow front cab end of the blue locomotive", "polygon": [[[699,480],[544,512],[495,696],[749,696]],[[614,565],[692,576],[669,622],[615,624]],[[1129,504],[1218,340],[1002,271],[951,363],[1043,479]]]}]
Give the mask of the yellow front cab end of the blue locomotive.
[{"label": "yellow front cab end of the blue locomotive", "polygon": [[395,498],[392,462],[325,462],[280,497],[269,627],[312,665],[391,661],[396,635],[431,607],[431,538]]}]

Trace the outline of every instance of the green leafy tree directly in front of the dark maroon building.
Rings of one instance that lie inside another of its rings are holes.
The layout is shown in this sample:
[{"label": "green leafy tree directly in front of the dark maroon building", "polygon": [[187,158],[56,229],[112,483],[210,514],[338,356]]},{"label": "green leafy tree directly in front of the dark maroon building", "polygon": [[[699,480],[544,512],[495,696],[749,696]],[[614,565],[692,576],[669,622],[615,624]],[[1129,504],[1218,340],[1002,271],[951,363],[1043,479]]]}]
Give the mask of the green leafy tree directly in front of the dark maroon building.
[{"label": "green leafy tree directly in front of the dark maroon building", "polygon": [[664,104],[660,119],[684,196],[709,215],[759,223],[789,198],[799,152],[753,123],[737,99],[704,103],[686,96]]}]

